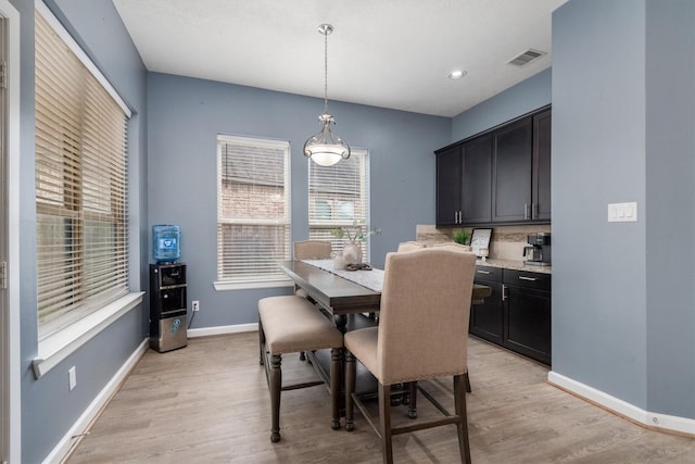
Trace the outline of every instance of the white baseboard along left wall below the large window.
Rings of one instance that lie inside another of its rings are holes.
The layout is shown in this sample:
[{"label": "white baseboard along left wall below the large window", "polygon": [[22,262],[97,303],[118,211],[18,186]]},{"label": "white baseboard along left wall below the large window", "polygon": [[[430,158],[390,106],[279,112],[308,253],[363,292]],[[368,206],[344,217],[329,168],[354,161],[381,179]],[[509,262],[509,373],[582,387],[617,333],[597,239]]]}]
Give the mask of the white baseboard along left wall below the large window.
[{"label": "white baseboard along left wall below the large window", "polygon": [[89,427],[89,425],[92,423],[94,417],[97,417],[104,404],[106,404],[113,393],[118,389],[121,383],[128,376],[130,369],[135,367],[138,361],[140,361],[140,358],[142,358],[144,352],[148,351],[148,347],[149,340],[146,338],[132,352],[132,354],[130,354],[128,360],[121,366],[121,368],[111,378],[111,380],[104,386],[104,388],[99,392],[99,394],[93,399],[93,401],[79,416],[75,424],[73,424],[70,430],[67,430],[67,434],[65,434],[65,436],[61,439],[61,441],[59,441],[55,448],[53,448],[53,451],[51,451],[46,460],[43,460],[43,464],[60,463],[67,456],[67,453],[75,442],[75,438],[73,437],[85,434],[87,427]]}]

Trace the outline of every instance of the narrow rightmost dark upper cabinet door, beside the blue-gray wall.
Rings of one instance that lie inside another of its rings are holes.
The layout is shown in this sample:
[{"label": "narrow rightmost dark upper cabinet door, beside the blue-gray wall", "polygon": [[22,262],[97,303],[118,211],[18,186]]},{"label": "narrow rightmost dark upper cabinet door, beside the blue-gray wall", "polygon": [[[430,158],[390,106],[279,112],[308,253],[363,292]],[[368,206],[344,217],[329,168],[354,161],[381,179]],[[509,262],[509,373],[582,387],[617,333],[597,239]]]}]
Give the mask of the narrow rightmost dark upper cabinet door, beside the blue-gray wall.
[{"label": "narrow rightmost dark upper cabinet door, beside the blue-gray wall", "polygon": [[533,116],[532,218],[551,220],[551,110]]}]

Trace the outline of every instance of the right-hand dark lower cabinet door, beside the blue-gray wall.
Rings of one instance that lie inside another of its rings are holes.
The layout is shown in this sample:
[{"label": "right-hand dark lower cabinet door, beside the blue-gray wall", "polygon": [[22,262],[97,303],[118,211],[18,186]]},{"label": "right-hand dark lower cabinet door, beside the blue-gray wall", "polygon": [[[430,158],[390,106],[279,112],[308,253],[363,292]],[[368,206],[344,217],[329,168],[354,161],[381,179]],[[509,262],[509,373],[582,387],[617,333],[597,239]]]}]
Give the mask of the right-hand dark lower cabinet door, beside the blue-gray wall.
[{"label": "right-hand dark lower cabinet door, beside the blue-gray wall", "polygon": [[545,290],[506,287],[504,346],[551,364],[551,293]]}]

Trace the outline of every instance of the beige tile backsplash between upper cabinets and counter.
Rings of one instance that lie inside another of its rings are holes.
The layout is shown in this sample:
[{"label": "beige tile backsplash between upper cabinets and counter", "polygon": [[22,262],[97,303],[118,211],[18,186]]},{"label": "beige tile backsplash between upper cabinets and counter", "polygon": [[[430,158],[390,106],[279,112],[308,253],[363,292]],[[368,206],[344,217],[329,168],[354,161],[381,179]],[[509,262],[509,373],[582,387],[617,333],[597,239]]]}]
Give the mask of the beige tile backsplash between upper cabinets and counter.
[{"label": "beige tile backsplash between upper cabinets and counter", "polygon": [[[472,228],[465,227],[471,231]],[[425,242],[451,241],[452,234],[459,228],[437,228],[433,225],[417,225],[415,239]],[[498,226],[492,228],[490,238],[490,259],[523,261],[523,247],[527,236],[536,233],[549,233],[551,225]]]}]

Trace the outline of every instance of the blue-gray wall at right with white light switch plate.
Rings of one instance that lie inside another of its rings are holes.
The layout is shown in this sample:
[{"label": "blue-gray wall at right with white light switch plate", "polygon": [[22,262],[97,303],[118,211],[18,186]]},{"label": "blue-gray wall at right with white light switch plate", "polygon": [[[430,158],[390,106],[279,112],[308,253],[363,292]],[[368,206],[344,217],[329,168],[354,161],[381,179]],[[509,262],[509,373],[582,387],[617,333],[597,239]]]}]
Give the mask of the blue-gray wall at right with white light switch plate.
[{"label": "blue-gray wall at right with white light switch plate", "polygon": [[[691,418],[694,17],[654,0],[553,16],[553,369]],[[623,201],[639,221],[608,223]]]}]

